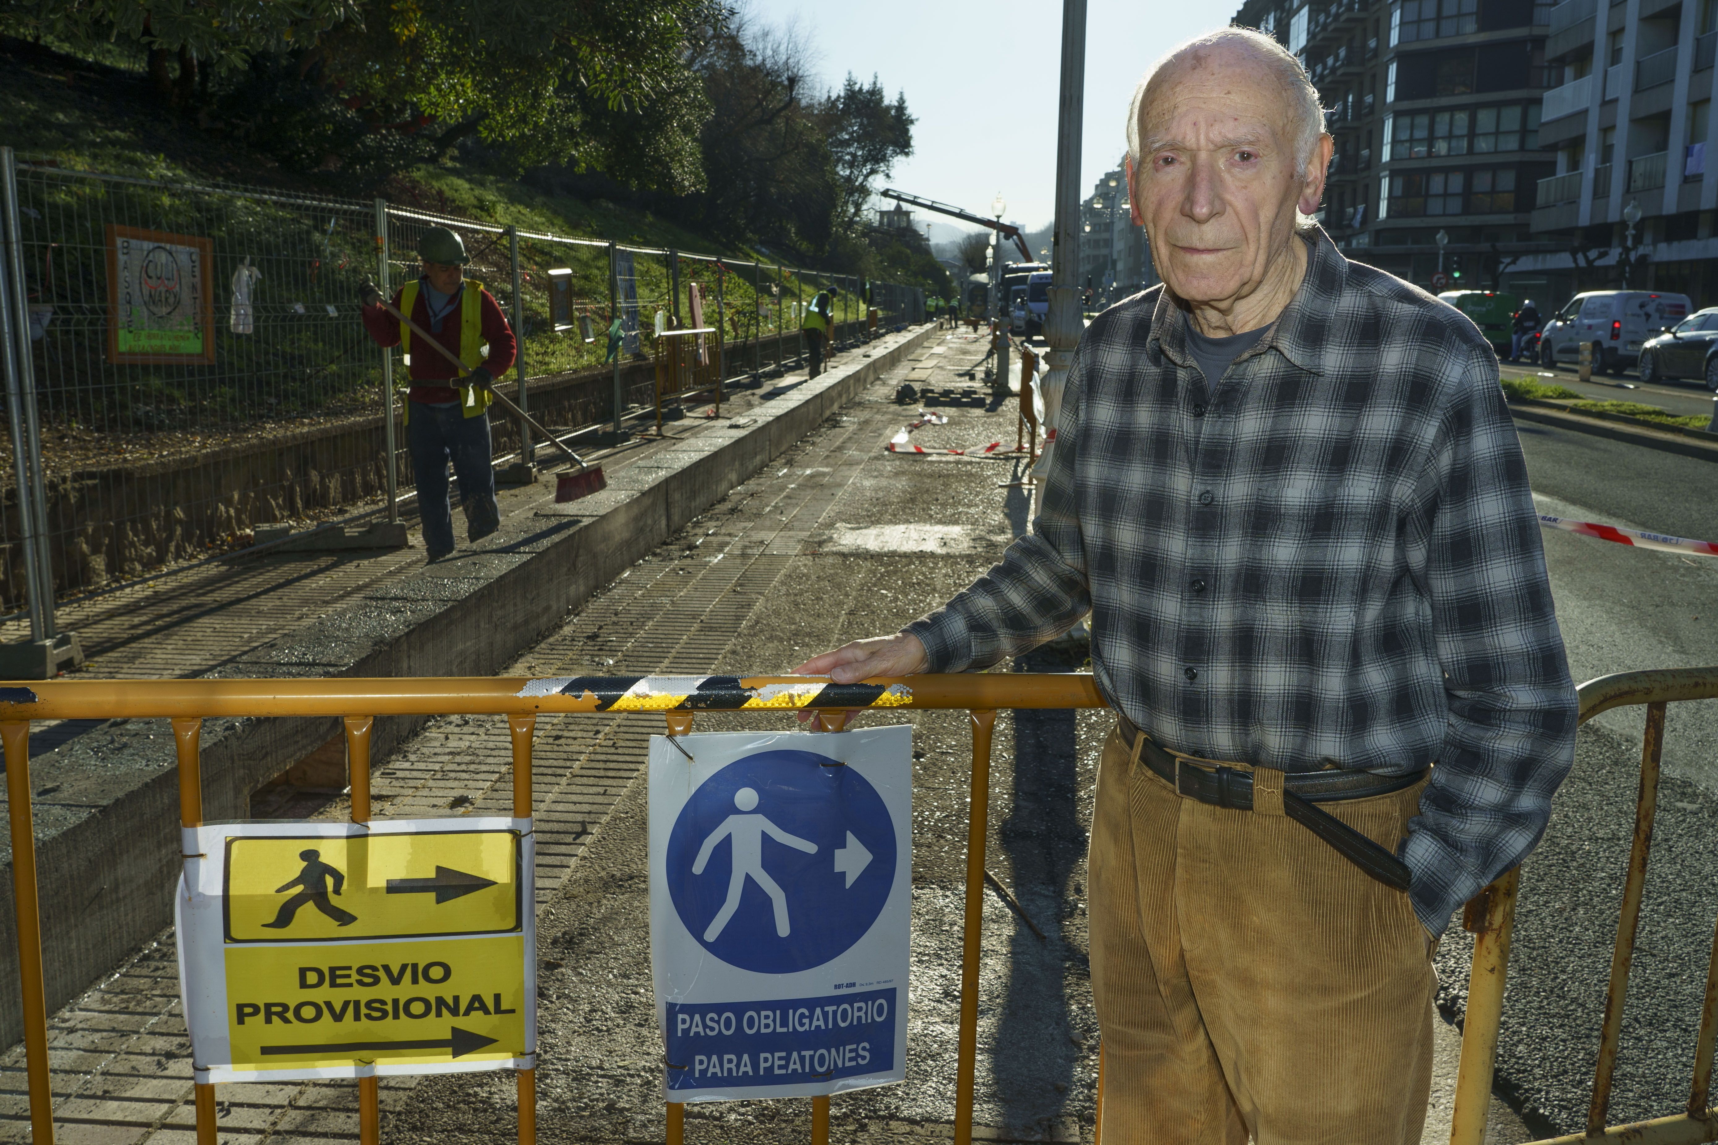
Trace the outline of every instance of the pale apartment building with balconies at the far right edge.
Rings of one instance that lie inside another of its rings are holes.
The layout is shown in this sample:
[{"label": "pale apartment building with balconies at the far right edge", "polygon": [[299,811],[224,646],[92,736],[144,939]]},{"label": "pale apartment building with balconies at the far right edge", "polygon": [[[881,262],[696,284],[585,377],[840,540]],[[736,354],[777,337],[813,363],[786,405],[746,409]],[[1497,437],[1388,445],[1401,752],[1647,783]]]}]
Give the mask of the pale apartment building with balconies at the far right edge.
[{"label": "pale apartment building with balconies at the far right edge", "polygon": [[1718,304],[1718,0],[1565,0],[1551,9],[1532,232],[1555,254],[1524,259],[1553,295],[1620,287]]}]

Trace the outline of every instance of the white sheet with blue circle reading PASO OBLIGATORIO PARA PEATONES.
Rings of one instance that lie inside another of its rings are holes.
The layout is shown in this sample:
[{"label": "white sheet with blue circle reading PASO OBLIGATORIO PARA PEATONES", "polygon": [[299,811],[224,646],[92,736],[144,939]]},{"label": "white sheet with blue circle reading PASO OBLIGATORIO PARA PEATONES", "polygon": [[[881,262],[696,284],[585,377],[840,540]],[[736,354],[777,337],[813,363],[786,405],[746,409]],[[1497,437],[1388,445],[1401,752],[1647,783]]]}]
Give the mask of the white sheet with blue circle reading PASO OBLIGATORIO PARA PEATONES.
[{"label": "white sheet with blue circle reading PASO OBLIGATORIO PARA PEATONES", "polygon": [[904,1080],[911,894],[911,728],[653,736],[668,1100]]}]

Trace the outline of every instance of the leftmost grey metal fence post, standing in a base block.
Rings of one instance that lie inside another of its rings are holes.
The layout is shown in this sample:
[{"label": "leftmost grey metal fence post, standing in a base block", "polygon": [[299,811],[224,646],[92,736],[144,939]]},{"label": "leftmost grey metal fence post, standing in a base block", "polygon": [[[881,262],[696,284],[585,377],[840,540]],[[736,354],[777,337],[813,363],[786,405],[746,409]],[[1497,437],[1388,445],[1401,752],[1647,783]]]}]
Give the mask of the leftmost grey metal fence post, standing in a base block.
[{"label": "leftmost grey metal fence post, standing in a base block", "polygon": [[[29,348],[29,294],[24,278],[24,249],[22,237],[19,235],[19,199],[17,199],[17,154],[12,148],[0,148],[0,194],[3,194],[3,204],[0,204],[0,213],[5,215],[5,247],[7,247],[7,264],[0,268],[0,275],[10,278],[10,297],[7,299],[7,316],[10,319],[10,338],[7,345],[14,347],[12,355],[7,360],[10,374],[7,378],[9,405],[15,400],[17,409],[14,410],[14,439],[22,448],[17,453],[19,467],[19,513],[26,512],[24,486],[31,489],[27,500],[27,518],[22,522],[26,539],[34,536],[34,544],[26,541],[24,560],[31,563],[36,570],[34,592],[31,597],[31,635],[29,645],[22,645],[15,654],[21,659],[14,663],[5,663],[3,668],[7,675],[14,675],[15,668],[26,669],[19,675],[27,675],[33,680],[48,680],[60,671],[62,666],[77,668],[84,663],[82,645],[77,642],[77,633],[67,632],[60,633],[58,625],[53,618],[53,558],[48,549],[48,482],[41,477],[41,422],[36,414],[36,374],[33,354]],[[206,331],[210,338],[215,331]],[[17,393],[12,393],[12,385],[15,383]],[[40,609],[36,604],[40,603]],[[41,630],[36,635],[36,620],[40,616]],[[10,656],[7,657],[10,661]]]}]

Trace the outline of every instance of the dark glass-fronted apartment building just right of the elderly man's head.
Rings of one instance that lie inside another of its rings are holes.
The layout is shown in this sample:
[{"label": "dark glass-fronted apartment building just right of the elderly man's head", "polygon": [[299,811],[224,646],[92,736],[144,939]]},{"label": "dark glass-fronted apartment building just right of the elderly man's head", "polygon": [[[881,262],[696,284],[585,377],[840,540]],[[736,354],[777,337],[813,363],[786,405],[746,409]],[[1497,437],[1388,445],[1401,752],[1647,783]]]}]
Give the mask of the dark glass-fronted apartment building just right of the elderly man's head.
[{"label": "dark glass-fronted apartment building just right of the elderly man's head", "polygon": [[[1342,251],[1426,288],[1534,292],[1531,230],[1550,81],[1546,0],[1247,0],[1307,69],[1337,141],[1319,221]],[[1441,239],[1441,242],[1440,242]]]}]

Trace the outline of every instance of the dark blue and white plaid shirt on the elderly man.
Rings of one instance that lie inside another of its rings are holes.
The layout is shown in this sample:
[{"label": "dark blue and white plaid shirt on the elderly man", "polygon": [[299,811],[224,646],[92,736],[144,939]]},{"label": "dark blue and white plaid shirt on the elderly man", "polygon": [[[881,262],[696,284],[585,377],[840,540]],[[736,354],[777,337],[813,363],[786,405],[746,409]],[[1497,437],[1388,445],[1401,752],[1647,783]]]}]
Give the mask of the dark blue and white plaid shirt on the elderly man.
[{"label": "dark blue and white plaid shirt on the elderly man", "polygon": [[1033,532],[909,625],[931,671],[1091,613],[1098,687],[1163,747],[1282,771],[1436,762],[1400,848],[1421,922],[1520,862],[1575,688],[1498,362],[1330,239],[1208,381],[1161,287],[1081,338]]}]

